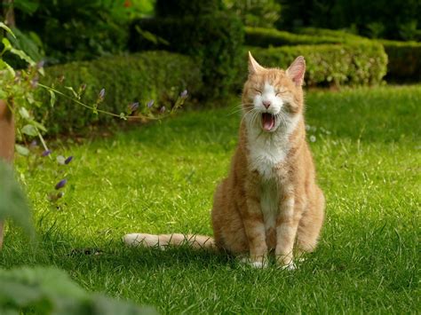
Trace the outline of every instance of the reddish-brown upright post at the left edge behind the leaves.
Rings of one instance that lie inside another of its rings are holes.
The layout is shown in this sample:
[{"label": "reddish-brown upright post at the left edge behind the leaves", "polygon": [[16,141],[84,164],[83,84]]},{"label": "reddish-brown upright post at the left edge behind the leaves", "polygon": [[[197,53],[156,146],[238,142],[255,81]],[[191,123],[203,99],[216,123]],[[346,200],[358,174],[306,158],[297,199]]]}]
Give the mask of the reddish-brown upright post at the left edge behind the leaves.
[{"label": "reddish-brown upright post at the left edge behind the leaves", "polygon": [[[0,99],[0,159],[12,163],[14,154],[14,120],[9,106]],[[0,187],[1,189],[1,187]],[[4,222],[0,221],[0,249],[3,245]]]}]

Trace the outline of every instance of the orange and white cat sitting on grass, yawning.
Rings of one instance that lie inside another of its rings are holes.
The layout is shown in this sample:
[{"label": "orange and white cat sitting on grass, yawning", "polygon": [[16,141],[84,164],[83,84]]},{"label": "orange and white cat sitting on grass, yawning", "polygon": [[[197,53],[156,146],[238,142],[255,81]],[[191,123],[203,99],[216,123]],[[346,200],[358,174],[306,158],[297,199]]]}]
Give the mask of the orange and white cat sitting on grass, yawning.
[{"label": "orange and white cat sitting on grass, yawning", "polygon": [[261,67],[249,53],[240,140],[229,175],[214,196],[214,239],[133,233],[124,241],[133,246],[187,242],[195,248],[223,249],[247,255],[246,261],[256,267],[266,266],[274,250],[277,264],[294,269],[293,255],[316,246],[325,205],[306,143],[305,71],[303,57],[283,71]]}]

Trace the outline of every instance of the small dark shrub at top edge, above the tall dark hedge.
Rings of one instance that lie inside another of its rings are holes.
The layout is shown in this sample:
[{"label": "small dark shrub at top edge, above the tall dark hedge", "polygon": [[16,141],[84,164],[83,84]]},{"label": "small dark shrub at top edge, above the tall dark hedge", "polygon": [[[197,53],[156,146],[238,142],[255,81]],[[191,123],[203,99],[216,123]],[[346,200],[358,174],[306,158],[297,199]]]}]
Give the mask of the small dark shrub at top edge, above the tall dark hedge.
[{"label": "small dark shrub at top edge, above the tall dark hedge", "polygon": [[[157,17],[184,19],[187,15],[207,15],[225,9],[221,0],[157,0],[155,14]],[[183,18],[181,18],[183,17]]]}]

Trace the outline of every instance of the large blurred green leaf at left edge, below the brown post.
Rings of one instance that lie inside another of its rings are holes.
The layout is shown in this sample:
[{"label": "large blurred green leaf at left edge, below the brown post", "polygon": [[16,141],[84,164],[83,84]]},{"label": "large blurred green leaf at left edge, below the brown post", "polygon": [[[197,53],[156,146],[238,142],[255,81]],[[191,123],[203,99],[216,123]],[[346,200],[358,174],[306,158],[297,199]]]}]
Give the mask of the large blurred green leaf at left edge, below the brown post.
[{"label": "large blurred green leaf at left edge, below the brown post", "polygon": [[35,229],[27,198],[14,177],[12,167],[4,161],[0,161],[0,187],[0,220],[12,219],[34,239]]}]

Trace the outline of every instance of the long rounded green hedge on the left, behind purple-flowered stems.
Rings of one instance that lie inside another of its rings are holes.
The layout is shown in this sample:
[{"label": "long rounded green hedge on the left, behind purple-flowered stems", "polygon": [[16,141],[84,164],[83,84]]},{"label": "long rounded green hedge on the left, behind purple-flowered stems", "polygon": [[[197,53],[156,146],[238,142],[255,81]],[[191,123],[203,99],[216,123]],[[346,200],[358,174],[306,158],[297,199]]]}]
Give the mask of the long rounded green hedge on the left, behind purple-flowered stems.
[{"label": "long rounded green hedge on the left, behind purple-flowered stems", "polygon": [[[54,84],[60,91],[71,95],[65,87],[76,91],[86,84],[83,102],[94,104],[99,91],[105,89],[105,98],[99,108],[116,114],[125,112],[129,104],[139,102],[139,108],[154,99],[155,106],[171,106],[179,92],[187,89],[195,95],[202,89],[199,65],[188,56],[167,51],[147,51],[121,57],[100,58],[92,61],[72,62],[45,68],[46,75],[40,80],[46,85]],[[57,78],[65,75],[62,83]],[[115,120],[105,114],[93,114],[75,102],[57,96],[53,108],[49,106],[50,95],[38,88],[38,99],[43,106],[36,114],[43,117],[50,135],[61,132],[78,132],[92,123],[108,123]]]}]

